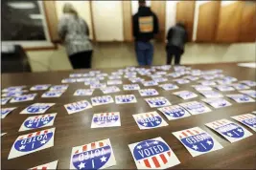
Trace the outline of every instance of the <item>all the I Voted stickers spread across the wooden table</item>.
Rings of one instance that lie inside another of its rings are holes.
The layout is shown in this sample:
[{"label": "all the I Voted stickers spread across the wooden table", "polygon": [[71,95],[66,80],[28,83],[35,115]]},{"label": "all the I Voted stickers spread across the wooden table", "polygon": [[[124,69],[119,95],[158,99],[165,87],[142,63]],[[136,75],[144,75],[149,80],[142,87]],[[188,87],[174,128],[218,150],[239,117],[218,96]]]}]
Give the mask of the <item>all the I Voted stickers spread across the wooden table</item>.
[{"label": "all the I Voted stickers spread across the wooden table", "polygon": [[[81,111],[105,104],[136,104],[137,99],[132,94],[138,91],[140,96],[145,97],[145,102],[154,109],[148,113],[134,114],[132,117],[141,130],[168,126],[168,122],[160,115],[163,114],[168,120],[191,117],[194,115],[212,112],[212,109],[220,109],[232,104],[224,98],[229,97],[237,103],[255,102],[255,81],[238,81],[237,78],[222,74],[221,70],[200,71],[184,66],[175,66],[175,72],[170,73],[171,66],[157,66],[150,69],[128,67],[111,74],[100,71],[91,71],[86,74],[70,74],[70,77],[62,79],[61,85],[42,84],[35,85],[30,91],[47,91],[41,97],[60,97],[73,83],[84,83],[87,88],[77,89],[74,96],[92,96],[91,100],[80,100],[67,103],[63,107],[67,114],[76,114]],[[145,77],[141,77],[141,76]],[[103,82],[107,78],[106,82]],[[123,84],[123,78],[127,78],[130,84]],[[173,81],[172,83],[170,83]],[[192,87],[198,92],[178,91],[183,84],[194,83]],[[139,85],[141,84],[141,86]],[[121,90],[120,87],[123,89]],[[144,86],[144,89],[141,87]],[[164,96],[153,87],[160,87],[163,91],[175,91],[172,94],[184,100],[197,98],[200,94],[205,98],[201,101],[187,101],[172,105]],[[12,86],[2,90],[1,105],[34,100],[37,94],[26,94],[26,86]],[[104,96],[93,96],[95,90],[101,90]],[[128,91],[130,95],[110,96],[111,94]],[[219,91],[219,92],[218,92]],[[239,91],[237,93],[236,91]],[[224,94],[224,92],[235,92]],[[207,106],[207,104],[209,106]],[[39,128],[54,125],[57,113],[45,114],[54,107],[55,103],[35,103],[25,108],[20,114],[34,115],[27,117],[19,128],[21,131],[37,130]],[[5,118],[16,107],[1,109],[1,117]],[[159,112],[157,112],[159,111]],[[256,131],[256,112],[231,117]],[[91,128],[121,126],[121,114],[119,112],[96,113],[91,120]],[[218,119],[205,124],[210,129],[219,133],[230,142],[235,142],[252,135],[241,124],[228,119]],[[56,128],[37,131],[19,136],[13,142],[8,159],[14,159],[39,150],[54,146]],[[1,134],[1,136],[6,133]],[[221,143],[199,127],[192,127],[178,132],[173,132],[193,157],[222,149]],[[131,155],[138,169],[164,169],[179,164],[180,161],[168,143],[161,137],[150,138],[128,145]],[[75,146],[70,157],[70,169],[104,169],[117,162],[110,139],[102,139],[91,143]],[[31,169],[56,169],[58,160],[38,165]]]}]

